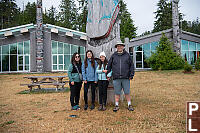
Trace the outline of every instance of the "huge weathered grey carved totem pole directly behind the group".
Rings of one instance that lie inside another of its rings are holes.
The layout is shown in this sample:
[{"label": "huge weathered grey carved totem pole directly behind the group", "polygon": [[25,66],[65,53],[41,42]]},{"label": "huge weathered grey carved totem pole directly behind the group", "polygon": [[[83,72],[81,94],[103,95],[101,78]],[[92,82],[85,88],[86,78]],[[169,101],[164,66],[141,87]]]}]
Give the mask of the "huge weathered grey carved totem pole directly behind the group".
[{"label": "huge weathered grey carved totem pole directly behind the group", "polygon": [[[86,50],[92,50],[95,57],[99,57],[100,52],[104,51],[106,58],[110,59],[115,52],[116,42],[120,41],[119,2],[120,0],[88,0]],[[114,103],[112,80],[107,95],[107,102]]]}]

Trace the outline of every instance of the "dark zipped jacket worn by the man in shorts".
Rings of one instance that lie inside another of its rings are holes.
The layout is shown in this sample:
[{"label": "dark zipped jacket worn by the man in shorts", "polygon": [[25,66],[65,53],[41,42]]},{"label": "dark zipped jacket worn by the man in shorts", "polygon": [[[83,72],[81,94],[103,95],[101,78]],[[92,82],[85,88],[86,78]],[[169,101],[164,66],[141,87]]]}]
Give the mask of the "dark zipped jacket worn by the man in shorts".
[{"label": "dark zipped jacket worn by the man in shorts", "polygon": [[132,79],[135,74],[132,58],[125,50],[110,57],[107,69],[108,72],[112,70],[113,79]]}]

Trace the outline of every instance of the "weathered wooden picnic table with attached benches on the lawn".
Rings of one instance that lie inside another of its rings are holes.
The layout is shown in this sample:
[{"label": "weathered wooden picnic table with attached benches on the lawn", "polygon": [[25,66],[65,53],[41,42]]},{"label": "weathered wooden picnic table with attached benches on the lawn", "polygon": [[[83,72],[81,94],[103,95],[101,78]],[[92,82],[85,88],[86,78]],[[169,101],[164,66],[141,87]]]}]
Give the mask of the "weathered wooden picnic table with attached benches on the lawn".
[{"label": "weathered wooden picnic table with attached benches on the lawn", "polygon": [[63,81],[64,78],[67,76],[26,76],[24,78],[30,79],[30,84],[21,84],[21,86],[28,86],[30,91],[32,91],[32,87],[38,86],[38,89],[41,89],[41,85],[54,85],[56,86],[56,91],[58,90],[59,86],[62,86],[64,89],[64,85],[68,81]]}]

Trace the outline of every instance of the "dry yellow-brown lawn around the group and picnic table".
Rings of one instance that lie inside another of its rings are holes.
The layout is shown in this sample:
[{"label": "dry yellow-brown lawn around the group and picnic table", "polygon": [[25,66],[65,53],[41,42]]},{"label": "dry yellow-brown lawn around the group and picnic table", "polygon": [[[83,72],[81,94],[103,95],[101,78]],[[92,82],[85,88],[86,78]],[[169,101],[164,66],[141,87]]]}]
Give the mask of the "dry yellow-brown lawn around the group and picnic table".
[{"label": "dry yellow-brown lawn around the group and picnic table", "polygon": [[116,113],[110,104],[106,111],[98,111],[98,105],[92,111],[84,111],[83,88],[81,110],[72,111],[69,89],[67,93],[24,91],[27,87],[20,84],[28,82],[23,79],[27,75],[0,76],[0,132],[183,133],[186,101],[198,101],[200,94],[199,71],[194,74],[184,74],[183,70],[136,72],[131,81],[134,112],[127,110],[126,101],[120,102]]}]

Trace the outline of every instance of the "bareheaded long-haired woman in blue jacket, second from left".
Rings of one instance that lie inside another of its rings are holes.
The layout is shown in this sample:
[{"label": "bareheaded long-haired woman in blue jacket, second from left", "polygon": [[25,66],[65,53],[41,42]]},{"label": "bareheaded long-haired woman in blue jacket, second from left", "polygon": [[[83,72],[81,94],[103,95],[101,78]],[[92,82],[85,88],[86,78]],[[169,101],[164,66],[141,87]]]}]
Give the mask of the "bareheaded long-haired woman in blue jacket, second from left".
[{"label": "bareheaded long-haired woman in blue jacket, second from left", "polygon": [[83,75],[83,81],[84,81],[84,101],[85,106],[84,110],[87,110],[88,108],[88,88],[91,86],[91,92],[92,92],[92,104],[90,109],[93,110],[95,108],[95,89],[96,89],[96,83],[97,83],[97,62],[94,59],[94,55],[91,50],[88,50],[86,52],[86,57],[84,62],[82,63],[82,75]]}]

